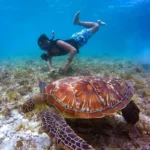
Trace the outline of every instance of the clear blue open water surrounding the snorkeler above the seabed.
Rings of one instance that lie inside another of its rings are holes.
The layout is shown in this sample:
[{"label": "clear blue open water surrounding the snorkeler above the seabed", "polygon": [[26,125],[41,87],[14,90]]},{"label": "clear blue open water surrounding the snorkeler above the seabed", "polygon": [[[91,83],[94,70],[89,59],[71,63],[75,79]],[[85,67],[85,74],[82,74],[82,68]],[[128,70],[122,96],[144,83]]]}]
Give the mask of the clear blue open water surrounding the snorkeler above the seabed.
[{"label": "clear blue open water surrounding the snorkeler above the seabed", "polygon": [[82,29],[72,24],[78,10],[83,21],[108,24],[79,55],[150,62],[150,0],[0,0],[0,58],[40,57],[40,34],[67,39]]}]

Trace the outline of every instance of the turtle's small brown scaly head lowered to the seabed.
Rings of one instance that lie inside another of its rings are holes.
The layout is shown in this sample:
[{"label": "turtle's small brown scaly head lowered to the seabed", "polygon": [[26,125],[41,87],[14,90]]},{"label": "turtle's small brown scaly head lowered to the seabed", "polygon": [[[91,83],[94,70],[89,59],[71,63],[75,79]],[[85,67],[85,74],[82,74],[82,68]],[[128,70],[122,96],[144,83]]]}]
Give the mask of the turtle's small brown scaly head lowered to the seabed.
[{"label": "turtle's small brown scaly head lowered to the seabed", "polygon": [[30,98],[22,105],[21,110],[23,113],[27,113],[32,111],[34,107],[35,107],[34,101],[32,98]]}]

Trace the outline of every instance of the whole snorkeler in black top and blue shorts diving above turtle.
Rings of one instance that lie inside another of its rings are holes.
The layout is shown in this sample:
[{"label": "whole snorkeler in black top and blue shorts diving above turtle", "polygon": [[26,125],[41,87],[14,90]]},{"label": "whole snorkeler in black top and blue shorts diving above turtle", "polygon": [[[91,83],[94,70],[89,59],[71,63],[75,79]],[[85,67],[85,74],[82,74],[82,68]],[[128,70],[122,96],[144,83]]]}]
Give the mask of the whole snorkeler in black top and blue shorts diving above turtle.
[{"label": "whole snorkeler in black top and blue shorts diving above turtle", "polygon": [[73,24],[80,25],[86,29],[72,35],[68,40],[57,39],[54,40],[54,32],[52,31],[52,38],[49,39],[45,34],[38,38],[38,45],[46,53],[41,55],[41,58],[47,62],[50,72],[55,72],[52,68],[52,57],[69,54],[69,57],[62,67],[62,72],[66,73],[70,63],[72,62],[76,53],[79,53],[79,48],[85,45],[94,33],[99,30],[99,27],[106,25],[104,22],[98,20],[95,22],[82,22],[79,20],[80,11],[75,14]]}]

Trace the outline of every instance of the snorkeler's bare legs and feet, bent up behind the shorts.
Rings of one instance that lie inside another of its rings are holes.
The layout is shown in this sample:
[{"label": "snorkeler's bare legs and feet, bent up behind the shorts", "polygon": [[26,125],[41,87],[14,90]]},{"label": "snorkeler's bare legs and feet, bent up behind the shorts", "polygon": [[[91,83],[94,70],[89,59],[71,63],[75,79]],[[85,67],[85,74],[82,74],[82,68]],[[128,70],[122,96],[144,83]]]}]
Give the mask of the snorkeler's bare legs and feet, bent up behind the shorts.
[{"label": "snorkeler's bare legs and feet, bent up behind the shorts", "polygon": [[80,25],[80,26],[83,26],[83,27],[85,27],[85,28],[89,28],[92,33],[97,32],[98,29],[99,29],[99,27],[100,27],[101,25],[106,25],[104,22],[102,22],[102,21],[100,21],[100,20],[98,20],[97,23],[96,23],[96,22],[83,22],[83,21],[80,21],[79,15],[80,15],[80,11],[78,11],[78,12],[75,14],[73,24],[75,24],[75,25]]}]

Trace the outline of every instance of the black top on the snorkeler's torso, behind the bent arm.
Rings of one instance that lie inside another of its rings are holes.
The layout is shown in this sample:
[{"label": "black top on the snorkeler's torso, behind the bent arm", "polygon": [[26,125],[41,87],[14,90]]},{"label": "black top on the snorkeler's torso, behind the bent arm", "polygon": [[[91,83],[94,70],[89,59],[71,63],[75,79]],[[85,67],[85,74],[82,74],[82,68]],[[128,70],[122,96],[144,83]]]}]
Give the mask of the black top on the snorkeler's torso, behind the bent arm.
[{"label": "black top on the snorkeler's torso, behind the bent arm", "polygon": [[[58,40],[60,40],[60,39],[52,41],[52,47],[48,50],[48,53],[50,54],[50,56],[61,56],[61,55],[68,54],[68,52],[64,48],[61,48],[57,45]],[[68,39],[68,40],[62,40],[62,41],[70,44],[71,46],[73,46],[77,50],[77,53],[79,53],[78,43],[74,39]],[[58,50],[56,51],[55,48],[58,49]]]}]

